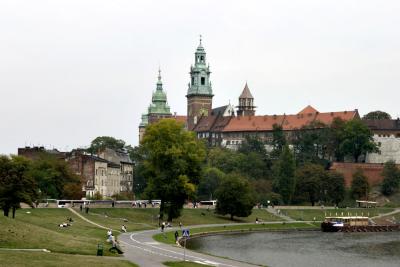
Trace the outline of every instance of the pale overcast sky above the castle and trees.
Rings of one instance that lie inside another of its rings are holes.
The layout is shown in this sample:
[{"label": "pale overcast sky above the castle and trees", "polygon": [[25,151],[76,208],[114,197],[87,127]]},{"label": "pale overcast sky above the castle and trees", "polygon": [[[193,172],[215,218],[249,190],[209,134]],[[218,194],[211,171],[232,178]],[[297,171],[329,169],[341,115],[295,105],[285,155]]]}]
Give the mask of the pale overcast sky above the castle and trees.
[{"label": "pale overcast sky above the castle and trees", "polygon": [[203,36],[213,106],[400,116],[400,1],[0,0],[0,154],[138,144],[158,68],[173,112]]}]

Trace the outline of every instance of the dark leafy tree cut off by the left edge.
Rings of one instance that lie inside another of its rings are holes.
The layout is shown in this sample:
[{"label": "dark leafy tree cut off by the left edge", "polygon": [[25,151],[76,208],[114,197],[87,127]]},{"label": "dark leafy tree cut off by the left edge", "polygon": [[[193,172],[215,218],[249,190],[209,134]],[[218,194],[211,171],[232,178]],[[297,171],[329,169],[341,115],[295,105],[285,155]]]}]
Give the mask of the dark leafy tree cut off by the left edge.
[{"label": "dark leafy tree cut off by the left edge", "polygon": [[23,157],[0,156],[0,207],[4,216],[8,217],[12,210],[15,218],[21,202],[33,207],[38,190],[34,179],[28,175],[29,168],[30,161]]}]

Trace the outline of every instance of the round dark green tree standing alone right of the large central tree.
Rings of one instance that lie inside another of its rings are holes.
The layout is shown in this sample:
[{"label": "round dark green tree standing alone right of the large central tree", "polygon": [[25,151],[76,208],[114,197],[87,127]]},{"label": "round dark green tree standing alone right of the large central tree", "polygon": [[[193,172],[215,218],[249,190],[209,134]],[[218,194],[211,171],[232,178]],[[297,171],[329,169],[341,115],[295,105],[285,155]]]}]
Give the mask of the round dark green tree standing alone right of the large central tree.
[{"label": "round dark green tree standing alone right of the large central tree", "polygon": [[254,192],[249,182],[239,175],[229,174],[216,191],[217,206],[215,212],[221,215],[248,217],[255,205]]}]

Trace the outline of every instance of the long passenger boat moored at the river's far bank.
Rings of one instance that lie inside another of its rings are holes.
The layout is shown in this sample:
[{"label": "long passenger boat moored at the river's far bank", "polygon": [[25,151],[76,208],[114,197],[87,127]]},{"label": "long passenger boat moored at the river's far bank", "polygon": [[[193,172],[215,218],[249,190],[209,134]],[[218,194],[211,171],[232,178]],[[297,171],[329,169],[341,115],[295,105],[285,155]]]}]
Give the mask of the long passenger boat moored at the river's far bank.
[{"label": "long passenger boat moored at the river's far bank", "polygon": [[364,216],[325,217],[321,223],[323,232],[392,232],[400,231],[399,224],[377,225]]}]

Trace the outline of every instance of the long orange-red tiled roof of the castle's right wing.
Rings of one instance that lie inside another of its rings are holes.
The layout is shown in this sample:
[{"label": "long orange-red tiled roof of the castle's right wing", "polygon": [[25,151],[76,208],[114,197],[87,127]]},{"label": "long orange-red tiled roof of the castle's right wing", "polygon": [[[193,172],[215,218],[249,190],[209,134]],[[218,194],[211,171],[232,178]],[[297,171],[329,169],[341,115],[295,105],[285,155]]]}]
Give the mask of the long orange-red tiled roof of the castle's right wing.
[{"label": "long orange-red tiled roof of the castle's right wing", "polygon": [[[303,111],[311,111],[308,107]],[[335,118],[344,121],[358,118],[358,111],[326,112],[326,113],[298,113],[295,115],[264,115],[264,116],[241,116],[232,118],[224,128],[224,132],[241,131],[272,131],[273,125],[282,126],[285,131],[300,129],[311,122],[318,121],[330,125]]]}]

